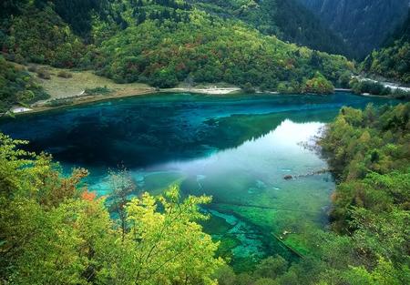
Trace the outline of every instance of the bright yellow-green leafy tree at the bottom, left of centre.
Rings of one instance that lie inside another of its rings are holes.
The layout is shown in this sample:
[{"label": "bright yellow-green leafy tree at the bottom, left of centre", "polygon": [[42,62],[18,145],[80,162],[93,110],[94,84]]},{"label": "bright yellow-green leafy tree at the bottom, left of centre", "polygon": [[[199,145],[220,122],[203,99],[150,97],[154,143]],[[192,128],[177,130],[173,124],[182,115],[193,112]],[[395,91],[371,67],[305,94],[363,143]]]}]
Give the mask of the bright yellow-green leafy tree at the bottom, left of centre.
[{"label": "bright yellow-green leafy tree at the bottom, left of centre", "polygon": [[[205,219],[199,204],[207,197],[180,201],[169,188],[158,198],[144,193],[127,206],[129,232],[116,252],[108,254],[104,283],[216,284],[210,276],[222,264],[213,255],[218,244],[201,231],[195,220]],[[160,209],[160,211],[159,211]]]}]

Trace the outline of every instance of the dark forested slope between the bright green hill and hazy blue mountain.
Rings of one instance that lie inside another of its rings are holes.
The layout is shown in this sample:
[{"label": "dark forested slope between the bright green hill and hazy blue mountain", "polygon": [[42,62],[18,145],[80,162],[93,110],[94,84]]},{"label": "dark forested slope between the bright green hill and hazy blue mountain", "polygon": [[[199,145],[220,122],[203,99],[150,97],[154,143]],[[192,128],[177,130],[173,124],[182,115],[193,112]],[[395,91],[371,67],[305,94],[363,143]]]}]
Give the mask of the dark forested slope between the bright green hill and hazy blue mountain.
[{"label": "dark forested slope between the bright green hill and hazy blue mountain", "polygon": [[237,18],[257,28],[264,35],[328,52],[348,55],[340,36],[296,0],[200,0],[192,5],[212,15]]}]

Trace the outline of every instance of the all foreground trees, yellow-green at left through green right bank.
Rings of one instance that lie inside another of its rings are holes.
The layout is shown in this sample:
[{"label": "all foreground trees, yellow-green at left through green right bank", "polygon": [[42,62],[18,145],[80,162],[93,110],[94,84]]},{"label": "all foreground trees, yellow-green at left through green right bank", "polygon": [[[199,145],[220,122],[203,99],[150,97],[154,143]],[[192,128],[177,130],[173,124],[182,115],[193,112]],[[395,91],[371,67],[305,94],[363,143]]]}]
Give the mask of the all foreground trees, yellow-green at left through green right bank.
[{"label": "all foreground trees, yellow-green at left through green right bank", "polygon": [[[46,154],[0,137],[1,279],[10,284],[408,284],[410,104],[343,107],[320,145],[338,185],[332,231],[313,233],[309,256],[281,256],[235,273],[202,233],[207,197],[135,192],[127,169],[112,194],[87,191],[87,170],[63,177]],[[108,209],[115,215],[109,215]]]}]

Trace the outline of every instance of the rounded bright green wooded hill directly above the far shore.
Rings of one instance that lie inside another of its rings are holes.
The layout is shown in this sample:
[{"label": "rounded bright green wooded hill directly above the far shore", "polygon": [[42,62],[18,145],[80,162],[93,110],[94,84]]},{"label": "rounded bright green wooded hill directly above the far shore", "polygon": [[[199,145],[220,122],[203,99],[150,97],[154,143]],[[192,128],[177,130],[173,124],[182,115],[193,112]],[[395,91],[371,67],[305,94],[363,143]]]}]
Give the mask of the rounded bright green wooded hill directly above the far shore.
[{"label": "rounded bright green wooded hill directly above the far shore", "polygon": [[316,71],[336,82],[343,71],[353,68],[343,56],[285,44],[238,21],[198,10],[190,11],[187,23],[147,19],[129,26],[104,42],[94,58],[100,75],[157,87],[173,87],[190,76],[198,83],[249,82],[276,89],[281,81],[301,84]]}]

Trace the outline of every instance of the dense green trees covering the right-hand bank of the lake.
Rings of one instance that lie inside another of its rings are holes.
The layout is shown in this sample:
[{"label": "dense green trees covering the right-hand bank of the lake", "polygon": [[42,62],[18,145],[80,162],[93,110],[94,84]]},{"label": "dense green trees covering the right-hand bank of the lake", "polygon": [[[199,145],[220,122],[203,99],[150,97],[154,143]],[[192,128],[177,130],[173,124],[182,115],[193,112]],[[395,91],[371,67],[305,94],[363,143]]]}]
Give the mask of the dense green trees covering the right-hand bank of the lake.
[{"label": "dense green trees covering the right-hand bank of the lake", "polygon": [[410,259],[410,103],[364,111],[343,107],[320,144],[334,168],[333,231],[310,233],[313,250],[288,264],[262,260],[220,284],[408,284]]}]

